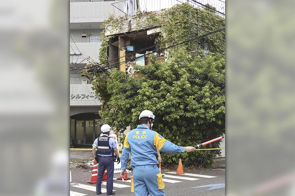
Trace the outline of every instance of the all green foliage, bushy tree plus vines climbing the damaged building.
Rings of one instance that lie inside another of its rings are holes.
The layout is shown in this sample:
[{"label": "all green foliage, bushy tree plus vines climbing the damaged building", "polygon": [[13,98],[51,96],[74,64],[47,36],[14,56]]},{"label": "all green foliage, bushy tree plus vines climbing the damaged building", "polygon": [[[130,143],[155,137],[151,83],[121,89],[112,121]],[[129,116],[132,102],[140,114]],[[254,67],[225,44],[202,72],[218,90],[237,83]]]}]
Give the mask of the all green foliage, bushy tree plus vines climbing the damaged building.
[{"label": "all green foliage, bushy tree plus vines climbing the damaged building", "polygon": [[[159,40],[165,46],[224,25],[223,18],[214,15],[212,10],[198,11],[184,4],[163,11],[160,17],[154,13],[146,14],[154,20],[153,24],[160,24],[165,36]],[[138,18],[142,15],[139,13]],[[111,25],[116,22],[122,24],[122,20],[124,18],[110,19]],[[106,24],[109,24],[108,21]],[[101,61],[107,60],[105,52],[108,39],[103,38]],[[83,74],[90,79],[96,76],[92,84],[102,101],[99,114],[104,123],[114,127],[117,134],[123,134],[128,126],[135,128],[139,124],[140,112],[149,109],[156,116],[153,130],[179,146],[195,146],[225,132],[224,43],[225,36],[221,31],[172,47],[169,50],[169,62],[158,62],[155,55],[150,55],[150,65],[135,67],[141,73],[137,78],[128,77],[118,69],[105,74],[84,69]],[[199,56],[201,53],[188,53],[197,49],[209,49],[212,54],[203,61]],[[219,143],[207,144],[203,148],[217,148]],[[161,157],[167,164],[176,164],[181,158],[187,166],[207,167],[217,154],[220,154],[220,150],[161,153]]]}]

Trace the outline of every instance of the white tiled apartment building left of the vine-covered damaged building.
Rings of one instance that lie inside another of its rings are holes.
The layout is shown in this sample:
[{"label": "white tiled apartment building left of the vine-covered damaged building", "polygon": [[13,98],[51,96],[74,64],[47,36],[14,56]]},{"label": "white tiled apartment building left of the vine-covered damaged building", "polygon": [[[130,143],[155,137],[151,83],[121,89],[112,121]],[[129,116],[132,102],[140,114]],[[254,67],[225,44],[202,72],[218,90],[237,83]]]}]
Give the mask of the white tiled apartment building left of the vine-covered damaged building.
[{"label": "white tiled apartment building left of the vine-covered damaged building", "polygon": [[101,102],[78,68],[99,62],[101,24],[113,17],[134,15],[137,0],[70,0],[70,146],[92,145],[101,134]]}]

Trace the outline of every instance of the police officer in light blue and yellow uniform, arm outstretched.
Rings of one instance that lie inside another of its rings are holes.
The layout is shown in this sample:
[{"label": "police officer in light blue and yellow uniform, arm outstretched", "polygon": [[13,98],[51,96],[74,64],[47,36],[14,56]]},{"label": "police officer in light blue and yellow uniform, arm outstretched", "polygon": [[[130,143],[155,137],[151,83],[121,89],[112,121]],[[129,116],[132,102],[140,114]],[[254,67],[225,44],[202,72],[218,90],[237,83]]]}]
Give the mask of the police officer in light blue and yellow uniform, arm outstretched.
[{"label": "police officer in light blue and yellow uniform, arm outstretched", "polygon": [[135,196],[164,196],[162,174],[157,165],[157,149],[167,153],[183,153],[195,150],[192,146],[181,147],[164,139],[151,130],[155,115],[149,110],[140,113],[140,125],[126,134],[121,156],[121,177],[126,174],[126,166],[131,152],[133,187]]}]

